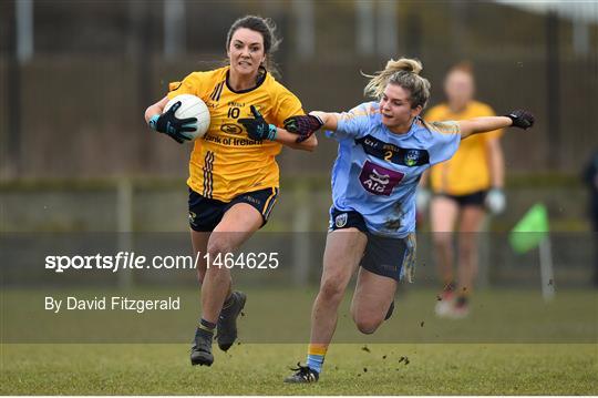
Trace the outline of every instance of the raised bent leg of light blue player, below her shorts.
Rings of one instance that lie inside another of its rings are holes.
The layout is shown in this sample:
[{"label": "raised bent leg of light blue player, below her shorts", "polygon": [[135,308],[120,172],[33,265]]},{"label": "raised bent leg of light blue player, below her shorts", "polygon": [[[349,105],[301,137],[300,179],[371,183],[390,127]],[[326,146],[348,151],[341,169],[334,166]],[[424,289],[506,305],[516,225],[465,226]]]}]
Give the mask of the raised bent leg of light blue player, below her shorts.
[{"label": "raised bent leg of light blue player, below her shorts", "polygon": [[351,316],[359,331],[372,334],[388,318],[396,285],[396,280],[388,276],[377,275],[363,267],[359,269],[351,302]]}]

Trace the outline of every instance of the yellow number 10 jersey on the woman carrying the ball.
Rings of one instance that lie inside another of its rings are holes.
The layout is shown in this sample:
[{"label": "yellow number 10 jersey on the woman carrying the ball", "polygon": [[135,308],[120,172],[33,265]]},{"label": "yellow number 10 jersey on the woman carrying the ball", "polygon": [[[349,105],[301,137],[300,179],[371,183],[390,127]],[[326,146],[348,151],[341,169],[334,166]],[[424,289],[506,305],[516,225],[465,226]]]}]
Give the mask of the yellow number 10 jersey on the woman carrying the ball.
[{"label": "yellow number 10 jersey on the woman carrying the ball", "polygon": [[234,91],[228,84],[229,67],[193,72],[181,83],[171,83],[168,99],[179,94],[199,96],[208,106],[210,125],[195,141],[189,160],[187,185],[200,195],[223,202],[246,193],[279,186],[275,156],[281,144],[254,141],[240,118],[252,118],[255,105],[268,123],[282,126],[285,119],[305,114],[301,102],[269,73],[256,88]]}]

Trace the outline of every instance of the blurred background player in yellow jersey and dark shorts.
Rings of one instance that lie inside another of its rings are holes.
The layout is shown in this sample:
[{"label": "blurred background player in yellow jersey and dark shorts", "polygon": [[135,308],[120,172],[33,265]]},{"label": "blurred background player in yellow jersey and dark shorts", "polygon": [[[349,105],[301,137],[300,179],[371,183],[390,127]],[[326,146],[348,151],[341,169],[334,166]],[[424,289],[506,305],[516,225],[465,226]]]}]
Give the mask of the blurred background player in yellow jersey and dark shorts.
[{"label": "blurred background player in yellow jersey and dark shorts", "polygon": [[[491,106],[474,100],[475,82],[470,63],[460,63],[448,71],[444,91],[447,102],[432,108],[425,115],[426,121],[495,115]],[[463,318],[470,312],[470,295],[477,275],[477,233],[482,229],[485,210],[497,214],[506,204],[501,135],[502,131],[496,130],[464,140],[451,160],[433,166],[422,178],[417,207],[424,212],[430,202],[434,247],[443,280],[435,308],[439,316]],[[455,227],[460,232],[456,278]]]}]

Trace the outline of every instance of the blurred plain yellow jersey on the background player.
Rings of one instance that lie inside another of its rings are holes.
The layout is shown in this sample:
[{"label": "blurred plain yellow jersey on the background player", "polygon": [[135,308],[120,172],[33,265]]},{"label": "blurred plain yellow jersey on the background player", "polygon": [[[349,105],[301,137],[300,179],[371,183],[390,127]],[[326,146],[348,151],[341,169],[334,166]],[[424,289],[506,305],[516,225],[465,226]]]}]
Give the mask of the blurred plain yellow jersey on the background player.
[{"label": "blurred plain yellow jersey on the background player", "polygon": [[[454,113],[447,104],[432,108],[425,114],[429,122],[445,120],[467,120],[481,116],[494,116],[491,106],[472,101],[465,110]],[[430,185],[436,193],[448,195],[468,195],[491,187],[491,171],[488,163],[488,140],[497,140],[502,130],[485,134],[475,134],[461,142],[458,151],[446,162],[434,165],[430,170]]]}]

